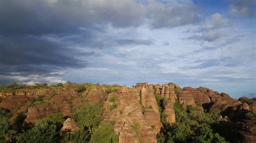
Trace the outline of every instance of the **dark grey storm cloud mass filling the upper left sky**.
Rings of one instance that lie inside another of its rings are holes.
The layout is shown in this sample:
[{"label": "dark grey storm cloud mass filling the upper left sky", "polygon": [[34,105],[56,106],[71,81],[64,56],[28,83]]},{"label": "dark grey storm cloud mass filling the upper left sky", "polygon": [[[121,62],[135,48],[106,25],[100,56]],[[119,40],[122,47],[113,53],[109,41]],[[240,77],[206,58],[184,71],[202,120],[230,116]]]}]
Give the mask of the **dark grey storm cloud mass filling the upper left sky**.
[{"label": "dark grey storm cloud mass filling the upper left sky", "polygon": [[99,56],[95,51],[101,48],[153,45],[152,39],[108,39],[99,35],[104,34],[106,26],[172,28],[195,23],[197,8],[191,1],[2,0],[0,81],[15,82],[17,76],[30,76],[22,82],[36,81],[39,77],[31,75],[46,77],[63,69],[84,68],[84,59]]}]

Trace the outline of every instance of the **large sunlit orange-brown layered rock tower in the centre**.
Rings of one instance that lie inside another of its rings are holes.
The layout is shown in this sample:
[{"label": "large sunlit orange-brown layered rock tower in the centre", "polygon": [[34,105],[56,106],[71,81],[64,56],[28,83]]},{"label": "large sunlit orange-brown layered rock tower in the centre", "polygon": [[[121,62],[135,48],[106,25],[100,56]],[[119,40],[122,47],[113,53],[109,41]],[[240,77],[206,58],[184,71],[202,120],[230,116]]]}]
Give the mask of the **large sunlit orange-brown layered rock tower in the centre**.
[{"label": "large sunlit orange-brown layered rock tower in the centre", "polygon": [[[109,102],[111,97],[116,97],[117,100],[111,103]],[[117,108],[111,111],[110,107],[113,104],[117,104]],[[127,126],[130,123],[130,126],[138,126],[136,138],[130,133],[133,142],[138,141],[137,139],[142,142],[157,142],[156,135],[162,125],[152,85],[136,84],[134,89],[122,88],[119,92],[109,95],[105,103],[103,122],[111,120],[115,121],[114,131],[121,135],[119,137],[121,141],[129,140],[124,134],[122,135],[122,130],[124,128],[124,131],[129,131],[130,127]]]}]

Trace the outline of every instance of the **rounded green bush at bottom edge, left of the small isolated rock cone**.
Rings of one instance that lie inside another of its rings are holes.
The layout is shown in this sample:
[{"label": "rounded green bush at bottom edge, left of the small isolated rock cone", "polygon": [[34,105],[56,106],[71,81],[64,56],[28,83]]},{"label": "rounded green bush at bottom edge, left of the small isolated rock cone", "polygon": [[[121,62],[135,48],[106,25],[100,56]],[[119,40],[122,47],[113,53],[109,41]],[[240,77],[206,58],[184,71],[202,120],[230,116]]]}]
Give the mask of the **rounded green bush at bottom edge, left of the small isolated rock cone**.
[{"label": "rounded green bush at bottom edge, left of the small isolated rock cone", "polygon": [[19,134],[17,140],[18,142],[57,142],[59,137],[56,125],[39,120],[31,130]]}]

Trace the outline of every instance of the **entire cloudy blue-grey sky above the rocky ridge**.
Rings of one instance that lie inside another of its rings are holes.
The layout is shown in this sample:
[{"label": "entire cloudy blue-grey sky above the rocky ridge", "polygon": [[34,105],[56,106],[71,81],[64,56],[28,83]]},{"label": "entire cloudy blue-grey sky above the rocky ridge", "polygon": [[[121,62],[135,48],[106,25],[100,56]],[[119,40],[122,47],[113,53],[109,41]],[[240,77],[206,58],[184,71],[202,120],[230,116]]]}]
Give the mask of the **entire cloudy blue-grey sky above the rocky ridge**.
[{"label": "entire cloudy blue-grey sky above the rocky ridge", "polygon": [[1,0],[0,84],[176,83],[256,97],[254,0]]}]

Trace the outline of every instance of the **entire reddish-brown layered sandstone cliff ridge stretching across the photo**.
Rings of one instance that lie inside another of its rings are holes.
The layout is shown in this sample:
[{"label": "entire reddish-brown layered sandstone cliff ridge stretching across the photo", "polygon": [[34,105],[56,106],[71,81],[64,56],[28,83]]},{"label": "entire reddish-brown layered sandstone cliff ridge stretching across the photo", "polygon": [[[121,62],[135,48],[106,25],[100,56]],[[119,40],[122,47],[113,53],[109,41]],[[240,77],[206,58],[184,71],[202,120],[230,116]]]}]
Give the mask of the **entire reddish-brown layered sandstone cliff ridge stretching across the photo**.
[{"label": "entire reddish-brown layered sandstone cliff ridge stretching across the photo", "polygon": [[[73,120],[72,107],[87,101],[104,103],[103,123],[114,121],[113,127],[119,142],[157,142],[156,135],[163,127],[156,96],[161,98],[162,112],[167,122],[176,122],[174,103],[180,102],[184,109],[197,106],[199,109],[218,109],[223,120],[237,123],[242,142],[255,142],[255,117],[245,118],[248,112],[256,111],[256,102],[250,104],[235,100],[225,93],[219,94],[208,88],[180,88],[174,83],[153,85],[137,83],[134,88],[119,85],[86,84],[84,92],[75,92],[78,84],[63,88],[47,88],[36,91],[0,91],[3,98],[0,108],[16,113],[25,113],[25,123],[34,124],[51,113],[62,112],[66,119],[63,132],[79,130]],[[107,90],[111,93],[107,94]],[[246,98],[242,98],[247,100]]]}]

